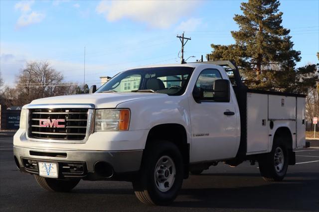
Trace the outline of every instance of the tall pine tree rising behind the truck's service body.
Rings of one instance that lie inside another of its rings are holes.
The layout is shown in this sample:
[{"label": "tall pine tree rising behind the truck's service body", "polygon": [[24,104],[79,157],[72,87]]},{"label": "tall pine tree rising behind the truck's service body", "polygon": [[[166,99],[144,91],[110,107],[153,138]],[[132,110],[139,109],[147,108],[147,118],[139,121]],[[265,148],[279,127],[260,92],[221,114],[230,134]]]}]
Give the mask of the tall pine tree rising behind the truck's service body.
[{"label": "tall pine tree rising behind the truck's service body", "polygon": [[[282,26],[279,5],[279,0],[242,2],[243,14],[234,17],[239,30],[231,31],[236,43],[211,44],[213,51],[208,56],[213,60],[235,61],[250,88],[305,92],[307,85],[300,82],[300,76],[314,74],[316,65],[295,70],[301,52],[293,49],[290,30]],[[315,78],[308,77],[307,83],[315,85]]]}]

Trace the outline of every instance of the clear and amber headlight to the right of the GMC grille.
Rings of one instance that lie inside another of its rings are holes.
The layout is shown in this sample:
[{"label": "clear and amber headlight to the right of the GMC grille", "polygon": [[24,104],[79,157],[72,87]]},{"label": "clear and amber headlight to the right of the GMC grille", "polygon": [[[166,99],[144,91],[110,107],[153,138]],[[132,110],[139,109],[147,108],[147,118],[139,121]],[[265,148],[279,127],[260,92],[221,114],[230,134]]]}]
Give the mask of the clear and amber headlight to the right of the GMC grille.
[{"label": "clear and amber headlight to the right of the GMC grille", "polygon": [[130,123],[129,109],[97,109],[95,131],[128,130]]}]

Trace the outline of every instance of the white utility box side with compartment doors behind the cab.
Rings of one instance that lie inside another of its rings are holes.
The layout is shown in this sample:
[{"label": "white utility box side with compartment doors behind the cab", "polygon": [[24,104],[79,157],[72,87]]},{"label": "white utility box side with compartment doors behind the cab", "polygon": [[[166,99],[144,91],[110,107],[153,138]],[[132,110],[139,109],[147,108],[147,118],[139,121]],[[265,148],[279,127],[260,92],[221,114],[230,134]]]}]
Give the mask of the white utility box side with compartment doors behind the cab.
[{"label": "white utility box side with compartment doors behind the cab", "polygon": [[247,155],[270,152],[280,127],[290,130],[293,150],[303,148],[306,144],[303,120],[305,98],[247,93]]}]

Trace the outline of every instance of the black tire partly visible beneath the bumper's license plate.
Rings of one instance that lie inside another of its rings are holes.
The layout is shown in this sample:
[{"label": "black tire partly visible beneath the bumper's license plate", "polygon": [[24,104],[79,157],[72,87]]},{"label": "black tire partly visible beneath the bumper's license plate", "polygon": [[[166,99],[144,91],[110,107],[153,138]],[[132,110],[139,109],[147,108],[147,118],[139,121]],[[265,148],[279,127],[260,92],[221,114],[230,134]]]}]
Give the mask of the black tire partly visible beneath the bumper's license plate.
[{"label": "black tire partly visible beneath the bumper's license plate", "polygon": [[75,180],[59,180],[53,178],[44,178],[34,175],[36,182],[44,189],[51,192],[69,192],[79,183],[79,179]]}]

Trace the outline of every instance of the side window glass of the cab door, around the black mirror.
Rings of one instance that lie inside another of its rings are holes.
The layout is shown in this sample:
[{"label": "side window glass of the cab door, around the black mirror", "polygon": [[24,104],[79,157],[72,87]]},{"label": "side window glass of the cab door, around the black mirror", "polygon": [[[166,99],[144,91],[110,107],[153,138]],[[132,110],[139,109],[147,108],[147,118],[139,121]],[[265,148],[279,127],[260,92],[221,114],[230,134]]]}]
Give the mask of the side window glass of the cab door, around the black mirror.
[{"label": "side window glass of the cab door, around the black mirror", "polygon": [[195,88],[203,93],[203,100],[211,100],[214,97],[213,86],[218,79],[222,77],[216,69],[205,69],[200,73]]}]

